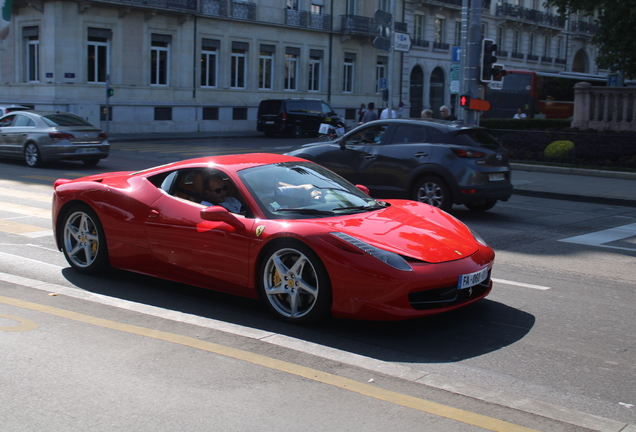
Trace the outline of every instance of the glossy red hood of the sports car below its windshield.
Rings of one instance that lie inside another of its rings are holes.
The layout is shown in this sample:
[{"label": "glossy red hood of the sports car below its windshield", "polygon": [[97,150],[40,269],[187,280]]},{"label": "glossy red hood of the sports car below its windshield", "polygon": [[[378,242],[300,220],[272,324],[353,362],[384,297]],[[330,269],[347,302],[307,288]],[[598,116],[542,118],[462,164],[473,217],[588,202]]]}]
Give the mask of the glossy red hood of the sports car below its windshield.
[{"label": "glossy red hood of the sports car below its windshield", "polygon": [[391,200],[386,209],[352,215],[339,221],[318,219],[373,246],[429,263],[456,261],[477,252],[470,230],[436,207],[415,201]]}]

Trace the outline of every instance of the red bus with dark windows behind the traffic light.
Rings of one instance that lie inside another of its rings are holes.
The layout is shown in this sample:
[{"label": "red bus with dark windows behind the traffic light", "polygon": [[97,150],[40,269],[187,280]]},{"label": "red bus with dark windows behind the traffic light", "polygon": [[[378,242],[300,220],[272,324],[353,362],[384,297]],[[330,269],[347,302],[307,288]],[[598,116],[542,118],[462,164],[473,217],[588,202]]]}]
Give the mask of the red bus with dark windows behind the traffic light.
[{"label": "red bus with dark windows behind the traffic light", "polygon": [[605,86],[607,78],[574,72],[508,71],[503,81],[488,83],[484,99],[488,118],[512,118],[517,109],[530,118],[570,118],[574,115],[574,85],[585,81]]}]

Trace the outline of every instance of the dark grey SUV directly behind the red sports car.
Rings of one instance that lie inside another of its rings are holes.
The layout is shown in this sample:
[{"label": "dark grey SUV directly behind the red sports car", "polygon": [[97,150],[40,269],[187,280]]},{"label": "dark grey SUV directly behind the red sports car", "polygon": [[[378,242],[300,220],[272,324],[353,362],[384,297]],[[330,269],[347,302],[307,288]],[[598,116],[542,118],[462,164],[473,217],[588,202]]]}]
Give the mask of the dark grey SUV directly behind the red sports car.
[{"label": "dark grey SUV directly behind the red sports car", "polygon": [[464,204],[485,211],[512,194],[508,151],[484,128],[445,120],[376,120],[287,154],[365,185],[373,197],[443,210]]}]

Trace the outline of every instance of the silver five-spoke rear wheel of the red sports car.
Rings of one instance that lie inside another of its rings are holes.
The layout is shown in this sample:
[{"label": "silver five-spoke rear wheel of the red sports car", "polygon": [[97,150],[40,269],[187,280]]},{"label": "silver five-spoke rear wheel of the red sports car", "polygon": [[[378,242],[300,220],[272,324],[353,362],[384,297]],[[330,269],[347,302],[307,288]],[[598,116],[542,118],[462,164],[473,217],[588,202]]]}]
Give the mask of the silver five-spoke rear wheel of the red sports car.
[{"label": "silver five-spoke rear wheel of the red sports car", "polygon": [[63,219],[62,250],[68,263],[85,274],[99,273],[108,265],[104,229],[87,206],[71,208]]}]

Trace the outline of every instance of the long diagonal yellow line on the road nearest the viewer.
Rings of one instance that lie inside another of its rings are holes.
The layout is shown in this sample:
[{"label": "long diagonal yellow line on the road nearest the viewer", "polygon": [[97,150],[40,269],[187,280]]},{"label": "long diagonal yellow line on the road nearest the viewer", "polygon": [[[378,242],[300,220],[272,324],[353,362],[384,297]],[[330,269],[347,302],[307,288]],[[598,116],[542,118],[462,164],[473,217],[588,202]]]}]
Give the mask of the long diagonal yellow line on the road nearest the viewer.
[{"label": "long diagonal yellow line on the road nearest the viewer", "polygon": [[131,324],[124,324],[103,318],[97,318],[90,315],[84,315],[77,312],[71,312],[65,309],[59,309],[52,306],[31,303],[24,300],[14,299],[10,297],[0,296],[0,302],[16,306],[23,309],[29,309],[70,319],[85,324],[91,324],[102,328],[117,330],[125,333],[135,334],[139,336],[149,337],[165,342],[172,342],[178,345],[195,348],[237,360],[246,361],[269,369],[286,372],[292,375],[310,379],[319,383],[328,384],[343,390],[352,391],[363,396],[368,396],[381,401],[401,405],[414,410],[433,414],[439,417],[445,417],[461,423],[466,423],[481,427],[486,430],[495,432],[537,432],[524,426],[508,423],[482,414],[472,413],[470,411],[453,408],[436,402],[427,401],[425,399],[408,396],[391,390],[385,390],[374,387],[370,384],[360,383],[358,381],[339,377],[334,374],[322,372],[316,369],[300,366],[282,360],[273,359],[260,354],[254,354],[236,348],[215,344],[212,342],[202,341],[188,336],[177,335],[174,333],[152,330],[145,327],[139,327]]}]

